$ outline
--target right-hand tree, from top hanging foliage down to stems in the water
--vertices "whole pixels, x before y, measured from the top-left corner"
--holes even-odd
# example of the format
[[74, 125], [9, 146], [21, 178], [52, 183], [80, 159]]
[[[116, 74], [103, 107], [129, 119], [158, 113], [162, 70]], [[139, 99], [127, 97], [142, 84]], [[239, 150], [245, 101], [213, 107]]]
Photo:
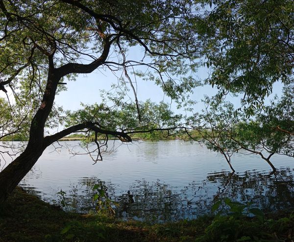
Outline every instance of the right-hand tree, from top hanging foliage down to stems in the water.
[[[294, 5], [291, 0], [213, 0], [198, 23], [211, 75], [217, 86], [196, 129], [209, 148], [231, 156], [245, 150], [270, 162], [273, 154], [294, 157]], [[273, 83], [284, 84], [283, 96], [264, 100]], [[225, 101], [231, 94], [242, 106]], [[209, 132], [207, 132], [209, 130]]]

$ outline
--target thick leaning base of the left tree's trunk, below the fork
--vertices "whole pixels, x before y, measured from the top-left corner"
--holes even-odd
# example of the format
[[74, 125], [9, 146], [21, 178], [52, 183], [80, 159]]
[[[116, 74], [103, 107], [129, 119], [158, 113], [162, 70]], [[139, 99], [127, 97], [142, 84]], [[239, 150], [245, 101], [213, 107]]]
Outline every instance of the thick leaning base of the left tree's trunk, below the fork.
[[45, 148], [28, 146], [25, 151], [0, 172], [0, 206], [26, 173], [32, 169]]

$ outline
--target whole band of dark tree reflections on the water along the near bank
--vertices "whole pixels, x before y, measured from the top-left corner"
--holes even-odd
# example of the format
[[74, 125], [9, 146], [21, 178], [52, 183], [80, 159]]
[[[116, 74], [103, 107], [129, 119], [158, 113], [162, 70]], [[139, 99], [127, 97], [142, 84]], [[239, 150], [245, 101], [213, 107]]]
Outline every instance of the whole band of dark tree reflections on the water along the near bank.
[[69, 209], [77, 212], [94, 209], [92, 188], [98, 183], [107, 187], [107, 196], [118, 203], [114, 209], [116, 216], [122, 219], [163, 222], [196, 218], [209, 213], [212, 204], [224, 197], [252, 202], [252, 206], [266, 211], [294, 206], [294, 169], [284, 168], [275, 174], [210, 173], [205, 180], [193, 181], [181, 188], [160, 180], [142, 179], [133, 182], [126, 191], [95, 176], [83, 177], [67, 191]]

